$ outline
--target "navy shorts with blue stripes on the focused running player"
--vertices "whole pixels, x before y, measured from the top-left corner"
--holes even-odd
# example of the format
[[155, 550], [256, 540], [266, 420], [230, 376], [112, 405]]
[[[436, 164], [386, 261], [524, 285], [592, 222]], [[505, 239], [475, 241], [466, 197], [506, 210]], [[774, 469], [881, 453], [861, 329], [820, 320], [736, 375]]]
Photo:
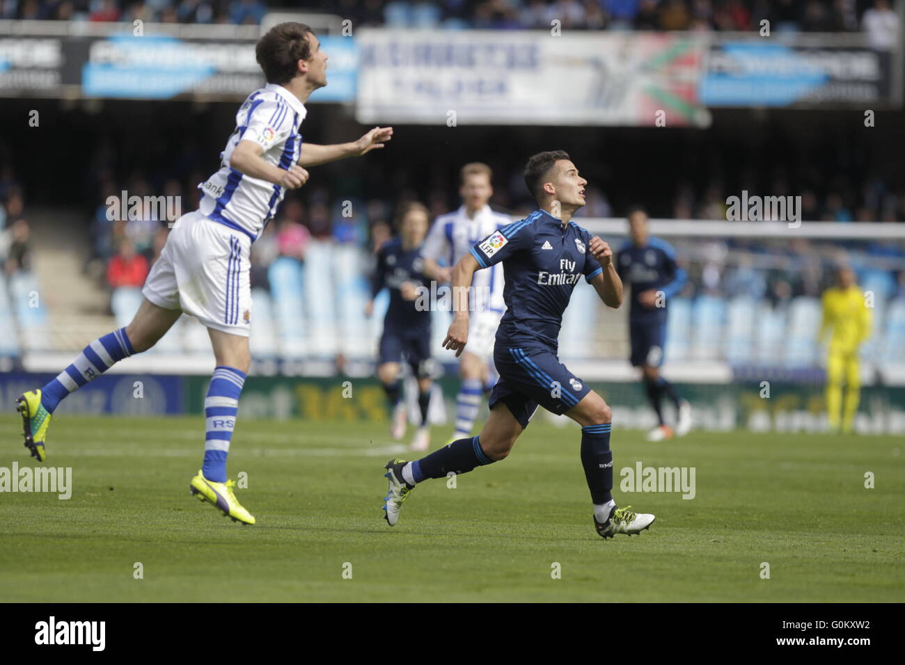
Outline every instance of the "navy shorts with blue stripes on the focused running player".
[[591, 392], [548, 349], [501, 347], [498, 343], [493, 348], [493, 363], [500, 380], [493, 386], [490, 407], [506, 404], [522, 427], [528, 427], [538, 405], [559, 415]]

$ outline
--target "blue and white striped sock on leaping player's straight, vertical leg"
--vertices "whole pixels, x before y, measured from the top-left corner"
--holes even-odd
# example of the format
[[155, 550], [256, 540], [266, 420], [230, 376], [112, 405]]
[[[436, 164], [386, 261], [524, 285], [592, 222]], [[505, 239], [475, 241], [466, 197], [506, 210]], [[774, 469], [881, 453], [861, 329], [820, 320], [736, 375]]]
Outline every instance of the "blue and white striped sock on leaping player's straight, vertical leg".
[[226, 456], [244, 384], [245, 373], [235, 367], [214, 368], [205, 398], [205, 463], [201, 472], [207, 480], [226, 482]]

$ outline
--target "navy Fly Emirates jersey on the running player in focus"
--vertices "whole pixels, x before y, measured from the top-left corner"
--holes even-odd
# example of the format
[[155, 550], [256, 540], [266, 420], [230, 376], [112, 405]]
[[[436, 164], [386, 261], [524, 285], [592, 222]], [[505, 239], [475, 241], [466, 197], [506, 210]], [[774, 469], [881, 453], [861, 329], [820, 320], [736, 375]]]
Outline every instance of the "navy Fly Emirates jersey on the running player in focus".
[[506, 313], [497, 346], [541, 345], [554, 351], [559, 328], [576, 282], [593, 280], [603, 269], [587, 249], [591, 234], [578, 224], [536, 210], [491, 233], [472, 247], [481, 268], [503, 264]]

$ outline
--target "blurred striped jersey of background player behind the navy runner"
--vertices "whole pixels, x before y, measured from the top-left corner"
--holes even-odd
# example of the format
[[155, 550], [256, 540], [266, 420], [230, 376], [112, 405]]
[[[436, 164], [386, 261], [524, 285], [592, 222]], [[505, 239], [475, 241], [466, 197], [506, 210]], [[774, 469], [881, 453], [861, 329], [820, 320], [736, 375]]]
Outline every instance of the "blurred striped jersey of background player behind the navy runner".
[[[509, 215], [494, 213], [490, 205], [485, 205], [469, 218], [462, 205], [452, 213], [441, 214], [433, 222], [424, 241], [422, 256], [452, 267], [462, 256], [471, 252], [475, 244], [510, 222]], [[503, 284], [503, 271], [497, 266], [476, 271], [472, 279], [472, 287], [489, 289], [486, 308], [500, 313], [506, 310]]]

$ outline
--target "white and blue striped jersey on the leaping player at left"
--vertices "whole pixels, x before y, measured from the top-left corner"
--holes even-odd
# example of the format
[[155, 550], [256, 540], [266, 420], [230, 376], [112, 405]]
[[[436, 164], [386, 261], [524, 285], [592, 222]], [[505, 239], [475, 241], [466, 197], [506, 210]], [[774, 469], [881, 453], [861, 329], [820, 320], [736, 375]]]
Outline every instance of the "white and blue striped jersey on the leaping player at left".
[[307, 113], [299, 98], [281, 85], [268, 83], [252, 92], [235, 114], [235, 131], [220, 153], [220, 170], [198, 185], [201, 213], [254, 241], [286, 192], [280, 185], [243, 175], [229, 165], [230, 157], [239, 141], [254, 141], [268, 164], [288, 170], [299, 161], [299, 127]]

